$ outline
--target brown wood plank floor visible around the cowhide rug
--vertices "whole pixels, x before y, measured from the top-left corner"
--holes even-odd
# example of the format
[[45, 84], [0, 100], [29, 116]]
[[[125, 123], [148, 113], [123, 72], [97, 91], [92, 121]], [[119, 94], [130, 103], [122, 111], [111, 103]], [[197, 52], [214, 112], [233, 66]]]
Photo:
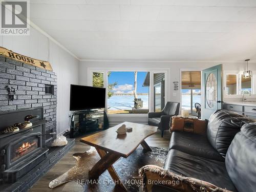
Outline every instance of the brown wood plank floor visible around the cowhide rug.
[[[62, 175], [63, 173], [67, 172], [68, 169], [74, 166], [74, 164], [76, 163], [76, 160], [72, 157], [74, 153], [82, 153], [90, 149], [89, 145], [79, 141], [79, 139], [82, 137], [76, 138], [76, 143], [75, 143], [75, 146], [72, 148], [72, 150], [69, 151], [58, 163], [56, 163], [45, 176], [43, 176], [40, 180], [38, 180], [34, 184], [34, 186], [29, 190], [30, 192], [31, 191], [35, 191], [35, 192], [83, 191], [82, 186], [77, 184], [75, 181], [63, 184], [54, 189], [51, 189], [48, 187], [48, 184], [52, 180]], [[156, 134], [145, 139], [148, 145], [162, 147], [162, 148], [168, 148], [169, 140], [170, 140], [169, 131], [165, 131], [163, 138], [161, 137], [160, 131], [158, 131]]]

